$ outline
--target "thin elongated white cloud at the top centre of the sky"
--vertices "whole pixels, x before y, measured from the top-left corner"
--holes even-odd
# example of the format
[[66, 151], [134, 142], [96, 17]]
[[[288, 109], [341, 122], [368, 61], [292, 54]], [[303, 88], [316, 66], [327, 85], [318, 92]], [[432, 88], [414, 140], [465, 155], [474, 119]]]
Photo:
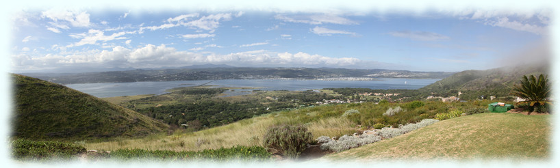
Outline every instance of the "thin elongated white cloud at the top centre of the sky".
[[275, 16], [278, 20], [283, 20], [285, 22], [291, 23], [307, 23], [310, 25], [322, 25], [322, 24], [338, 24], [338, 25], [359, 25], [354, 20], [348, 18], [343, 18], [333, 14], [314, 14], [314, 15], [300, 15], [300, 16], [283, 16], [277, 14]]

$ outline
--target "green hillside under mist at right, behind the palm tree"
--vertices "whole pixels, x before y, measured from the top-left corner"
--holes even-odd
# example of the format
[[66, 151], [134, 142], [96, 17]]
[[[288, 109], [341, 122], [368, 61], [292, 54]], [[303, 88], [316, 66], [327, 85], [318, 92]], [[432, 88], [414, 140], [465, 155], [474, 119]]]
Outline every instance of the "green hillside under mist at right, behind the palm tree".
[[418, 89], [424, 93], [440, 96], [456, 96], [462, 92], [461, 99], [472, 100], [477, 96], [509, 96], [511, 87], [519, 83], [523, 75], [548, 74], [548, 66], [510, 66], [490, 70], [466, 70], [458, 72], [441, 81]]

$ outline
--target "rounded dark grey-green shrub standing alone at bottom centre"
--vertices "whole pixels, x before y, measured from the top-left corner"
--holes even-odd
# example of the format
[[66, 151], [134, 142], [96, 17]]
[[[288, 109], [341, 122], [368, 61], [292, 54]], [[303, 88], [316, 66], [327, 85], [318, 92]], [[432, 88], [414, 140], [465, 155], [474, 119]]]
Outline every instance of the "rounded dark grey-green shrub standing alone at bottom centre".
[[282, 152], [284, 156], [297, 158], [312, 140], [305, 126], [272, 126], [264, 135], [264, 146]]

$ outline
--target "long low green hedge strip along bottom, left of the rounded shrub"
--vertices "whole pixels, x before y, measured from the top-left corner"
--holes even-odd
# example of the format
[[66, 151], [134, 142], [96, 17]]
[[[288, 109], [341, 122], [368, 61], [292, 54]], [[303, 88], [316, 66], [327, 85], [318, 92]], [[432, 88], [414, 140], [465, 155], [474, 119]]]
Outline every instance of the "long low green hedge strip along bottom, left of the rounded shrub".
[[111, 152], [110, 158], [116, 160], [270, 160], [270, 152], [260, 146], [236, 146], [218, 150], [182, 151], [123, 149]]

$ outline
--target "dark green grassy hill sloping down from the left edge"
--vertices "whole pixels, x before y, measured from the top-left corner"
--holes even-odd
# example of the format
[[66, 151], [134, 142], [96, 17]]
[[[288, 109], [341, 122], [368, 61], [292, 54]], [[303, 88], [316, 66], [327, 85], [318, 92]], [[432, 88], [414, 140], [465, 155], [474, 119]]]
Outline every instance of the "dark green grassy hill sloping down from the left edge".
[[13, 135], [28, 139], [137, 137], [166, 124], [63, 85], [12, 74]]

